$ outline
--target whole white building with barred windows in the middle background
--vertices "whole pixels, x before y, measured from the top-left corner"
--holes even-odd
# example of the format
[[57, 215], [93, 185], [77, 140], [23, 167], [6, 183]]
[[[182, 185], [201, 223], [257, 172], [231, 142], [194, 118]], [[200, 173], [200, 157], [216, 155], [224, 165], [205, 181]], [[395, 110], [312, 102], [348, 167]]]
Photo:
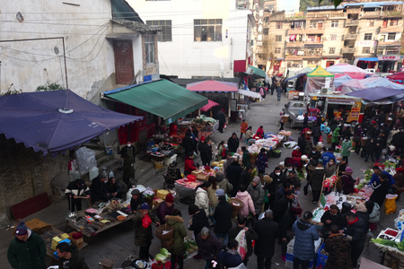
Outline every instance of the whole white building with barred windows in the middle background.
[[252, 1], [129, 0], [145, 23], [162, 28], [160, 72], [179, 78], [226, 77], [253, 62]]

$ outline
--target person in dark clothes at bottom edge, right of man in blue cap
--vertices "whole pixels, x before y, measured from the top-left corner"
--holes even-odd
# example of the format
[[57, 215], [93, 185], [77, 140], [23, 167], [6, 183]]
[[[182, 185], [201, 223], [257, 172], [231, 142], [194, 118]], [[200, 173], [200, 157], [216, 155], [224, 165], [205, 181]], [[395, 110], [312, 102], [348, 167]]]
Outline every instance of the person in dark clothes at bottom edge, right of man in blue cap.
[[57, 244], [57, 256], [60, 269], [90, 269], [84, 258], [78, 255], [78, 248], [74, 244], [61, 242]]

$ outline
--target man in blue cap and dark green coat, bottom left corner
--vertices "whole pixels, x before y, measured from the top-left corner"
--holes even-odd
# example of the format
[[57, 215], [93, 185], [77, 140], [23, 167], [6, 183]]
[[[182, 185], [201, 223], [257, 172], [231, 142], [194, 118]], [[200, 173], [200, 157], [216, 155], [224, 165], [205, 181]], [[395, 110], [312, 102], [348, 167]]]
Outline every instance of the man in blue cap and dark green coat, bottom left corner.
[[45, 269], [47, 246], [44, 240], [20, 221], [8, 247], [7, 259], [13, 269]]

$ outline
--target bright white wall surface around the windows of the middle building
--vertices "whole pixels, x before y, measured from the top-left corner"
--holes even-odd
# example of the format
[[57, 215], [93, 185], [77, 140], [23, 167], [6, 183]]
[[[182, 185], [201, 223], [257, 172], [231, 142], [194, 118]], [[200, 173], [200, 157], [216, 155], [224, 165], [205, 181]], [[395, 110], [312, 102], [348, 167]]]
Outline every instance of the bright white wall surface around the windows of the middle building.
[[[172, 41], [158, 43], [161, 74], [233, 77], [233, 61], [246, 59], [250, 11], [237, 10], [235, 0], [127, 2], [144, 22], [171, 20]], [[194, 19], [223, 19], [222, 41], [194, 42]]]

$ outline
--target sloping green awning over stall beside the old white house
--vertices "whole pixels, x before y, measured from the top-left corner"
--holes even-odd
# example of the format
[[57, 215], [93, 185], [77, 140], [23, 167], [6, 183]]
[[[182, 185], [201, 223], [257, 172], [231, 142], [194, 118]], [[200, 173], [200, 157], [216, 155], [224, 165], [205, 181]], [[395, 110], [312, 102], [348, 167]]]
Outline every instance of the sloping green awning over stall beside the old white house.
[[206, 97], [167, 80], [130, 85], [106, 91], [103, 96], [162, 117], [166, 124], [207, 104]]

